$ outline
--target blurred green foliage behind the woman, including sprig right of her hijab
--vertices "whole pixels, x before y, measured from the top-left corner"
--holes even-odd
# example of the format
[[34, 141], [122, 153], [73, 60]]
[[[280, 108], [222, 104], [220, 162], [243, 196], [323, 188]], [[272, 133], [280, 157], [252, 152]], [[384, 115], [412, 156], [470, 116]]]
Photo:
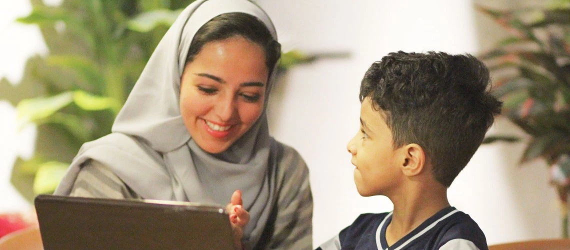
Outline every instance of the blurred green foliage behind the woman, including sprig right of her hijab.
[[[37, 126], [31, 159], [18, 158], [11, 183], [25, 198], [55, 190], [79, 147], [111, 132], [116, 114], [158, 42], [193, 0], [63, 0], [17, 21], [40, 28], [48, 55], [26, 62], [18, 84], [0, 80], [0, 100], [16, 106], [18, 125]], [[318, 58], [282, 56], [279, 72]]]

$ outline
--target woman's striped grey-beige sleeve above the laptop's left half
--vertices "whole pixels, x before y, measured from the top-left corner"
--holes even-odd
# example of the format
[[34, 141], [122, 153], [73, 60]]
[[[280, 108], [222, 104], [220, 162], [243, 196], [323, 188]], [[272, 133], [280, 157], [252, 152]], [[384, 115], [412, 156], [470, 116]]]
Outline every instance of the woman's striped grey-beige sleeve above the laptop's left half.
[[70, 196], [109, 199], [139, 199], [115, 173], [97, 161], [87, 161], [82, 166]]

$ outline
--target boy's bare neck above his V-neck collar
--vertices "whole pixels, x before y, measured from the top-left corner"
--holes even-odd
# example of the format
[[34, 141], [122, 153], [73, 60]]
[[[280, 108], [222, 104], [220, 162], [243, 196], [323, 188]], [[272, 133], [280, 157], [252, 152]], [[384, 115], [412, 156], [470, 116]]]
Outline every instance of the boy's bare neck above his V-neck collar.
[[447, 187], [439, 184], [406, 188], [405, 192], [390, 195], [388, 198], [394, 203], [392, 221], [386, 228], [388, 245], [396, 243], [425, 220], [450, 206], [447, 201]]

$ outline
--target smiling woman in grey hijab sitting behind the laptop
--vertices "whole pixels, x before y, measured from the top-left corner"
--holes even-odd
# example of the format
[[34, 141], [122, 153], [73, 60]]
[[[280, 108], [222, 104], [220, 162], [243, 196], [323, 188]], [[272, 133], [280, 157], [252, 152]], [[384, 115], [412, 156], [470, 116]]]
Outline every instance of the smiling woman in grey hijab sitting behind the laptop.
[[231, 200], [245, 248], [312, 249], [307, 166], [268, 134], [279, 56], [275, 28], [254, 3], [192, 3], [150, 57], [113, 133], [82, 146], [55, 194]]

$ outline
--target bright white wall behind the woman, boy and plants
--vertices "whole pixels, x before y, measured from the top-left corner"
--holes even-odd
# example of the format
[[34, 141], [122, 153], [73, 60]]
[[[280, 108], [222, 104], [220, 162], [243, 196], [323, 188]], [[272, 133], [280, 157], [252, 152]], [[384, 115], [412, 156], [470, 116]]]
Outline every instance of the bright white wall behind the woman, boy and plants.
[[[11, 80], [19, 77], [10, 74], [21, 72], [30, 51], [44, 50], [33, 27], [9, 23], [12, 17], [25, 15], [22, 6], [27, 3], [21, 2], [0, 3], [0, 37], [11, 38], [11, 42], [0, 39], [0, 76]], [[286, 49], [351, 52], [348, 59], [320, 60], [292, 69], [275, 87], [270, 104], [272, 134], [294, 146], [310, 167], [318, 245], [358, 214], [392, 209], [384, 197], [359, 196], [345, 149], [359, 127], [358, 91], [368, 66], [397, 50], [476, 54], [482, 43], [477, 35], [481, 27], [467, 0], [257, 2], [274, 20]], [[6, 183], [16, 153], [10, 110], [0, 105], [0, 152], [6, 154], [0, 155], [5, 159], [0, 161], [0, 212], [27, 206]], [[511, 131], [522, 134], [503, 119], [491, 129]], [[559, 236], [556, 197], [544, 163], [519, 166], [522, 150], [521, 144], [482, 146], [449, 189], [452, 205], [479, 223], [490, 244]]]

